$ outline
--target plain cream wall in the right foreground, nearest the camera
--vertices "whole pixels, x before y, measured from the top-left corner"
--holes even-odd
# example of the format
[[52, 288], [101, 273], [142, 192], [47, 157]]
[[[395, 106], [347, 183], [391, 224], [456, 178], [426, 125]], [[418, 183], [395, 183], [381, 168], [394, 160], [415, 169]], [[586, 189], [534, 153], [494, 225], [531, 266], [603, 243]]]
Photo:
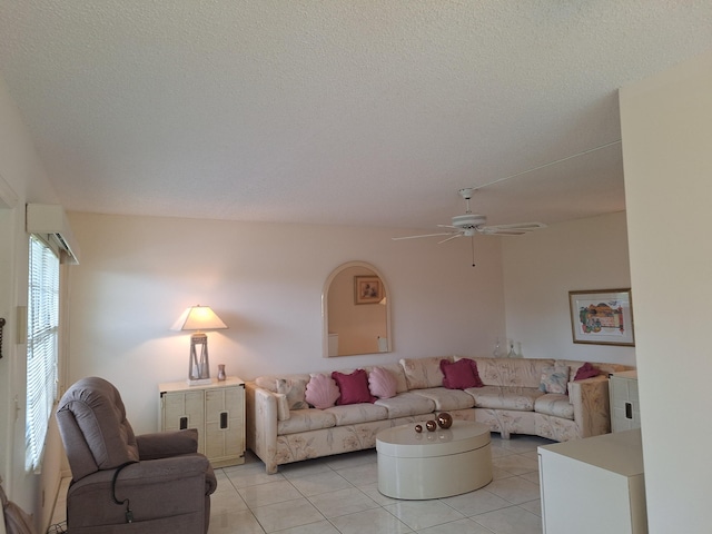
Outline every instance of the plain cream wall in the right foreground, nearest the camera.
[[712, 52], [620, 101], [649, 527], [710, 532]]

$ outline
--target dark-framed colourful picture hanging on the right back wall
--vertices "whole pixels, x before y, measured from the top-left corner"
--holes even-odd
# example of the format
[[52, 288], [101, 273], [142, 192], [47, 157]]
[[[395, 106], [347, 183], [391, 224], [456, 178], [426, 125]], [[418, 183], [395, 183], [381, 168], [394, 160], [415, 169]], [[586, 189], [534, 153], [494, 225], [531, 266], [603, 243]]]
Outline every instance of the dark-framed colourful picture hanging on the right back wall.
[[568, 291], [574, 343], [634, 347], [631, 289]]

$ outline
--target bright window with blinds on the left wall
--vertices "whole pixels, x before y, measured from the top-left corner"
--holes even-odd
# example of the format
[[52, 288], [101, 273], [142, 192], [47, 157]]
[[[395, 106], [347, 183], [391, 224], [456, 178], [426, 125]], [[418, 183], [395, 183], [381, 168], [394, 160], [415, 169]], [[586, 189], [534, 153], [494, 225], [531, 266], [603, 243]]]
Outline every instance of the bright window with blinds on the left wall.
[[57, 398], [59, 336], [59, 258], [37, 236], [30, 237], [27, 325], [26, 468], [37, 469]]

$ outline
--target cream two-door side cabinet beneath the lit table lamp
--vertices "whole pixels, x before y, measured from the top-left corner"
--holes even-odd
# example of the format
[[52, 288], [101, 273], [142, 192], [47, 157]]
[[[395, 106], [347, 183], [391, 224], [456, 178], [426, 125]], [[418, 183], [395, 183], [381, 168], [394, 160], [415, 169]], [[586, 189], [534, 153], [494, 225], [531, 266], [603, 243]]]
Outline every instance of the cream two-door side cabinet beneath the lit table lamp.
[[198, 429], [198, 452], [212, 467], [245, 463], [245, 383], [229, 377], [201, 386], [158, 385], [161, 432]]

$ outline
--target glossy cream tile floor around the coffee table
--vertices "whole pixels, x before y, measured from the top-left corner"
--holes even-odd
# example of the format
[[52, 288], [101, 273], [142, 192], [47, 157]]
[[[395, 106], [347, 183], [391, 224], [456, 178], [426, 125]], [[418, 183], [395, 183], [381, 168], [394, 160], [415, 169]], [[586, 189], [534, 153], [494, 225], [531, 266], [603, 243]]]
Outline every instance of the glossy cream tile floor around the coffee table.
[[209, 534], [540, 534], [536, 447], [550, 443], [493, 434], [494, 481], [432, 501], [379, 494], [375, 449], [283, 465], [276, 475], [248, 452], [244, 465], [216, 469]]

